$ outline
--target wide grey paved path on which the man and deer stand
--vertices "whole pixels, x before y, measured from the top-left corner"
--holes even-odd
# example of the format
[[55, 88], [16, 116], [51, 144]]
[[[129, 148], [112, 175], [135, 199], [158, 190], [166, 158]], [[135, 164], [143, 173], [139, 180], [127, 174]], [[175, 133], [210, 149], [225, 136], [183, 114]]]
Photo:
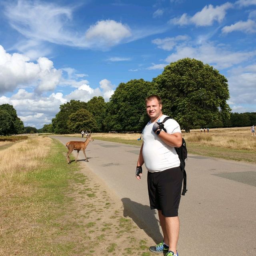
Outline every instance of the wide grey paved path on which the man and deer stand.
[[[82, 140], [51, 137], [63, 144]], [[159, 242], [162, 234], [158, 216], [148, 206], [144, 166], [142, 180], [135, 178], [139, 150], [138, 146], [94, 140], [86, 150], [89, 162], [85, 164], [122, 200], [124, 215], [130, 216], [148, 236]], [[255, 255], [255, 164], [188, 156], [188, 192], [182, 196], [179, 209], [180, 256]], [[84, 160], [82, 152], [79, 157]]]

